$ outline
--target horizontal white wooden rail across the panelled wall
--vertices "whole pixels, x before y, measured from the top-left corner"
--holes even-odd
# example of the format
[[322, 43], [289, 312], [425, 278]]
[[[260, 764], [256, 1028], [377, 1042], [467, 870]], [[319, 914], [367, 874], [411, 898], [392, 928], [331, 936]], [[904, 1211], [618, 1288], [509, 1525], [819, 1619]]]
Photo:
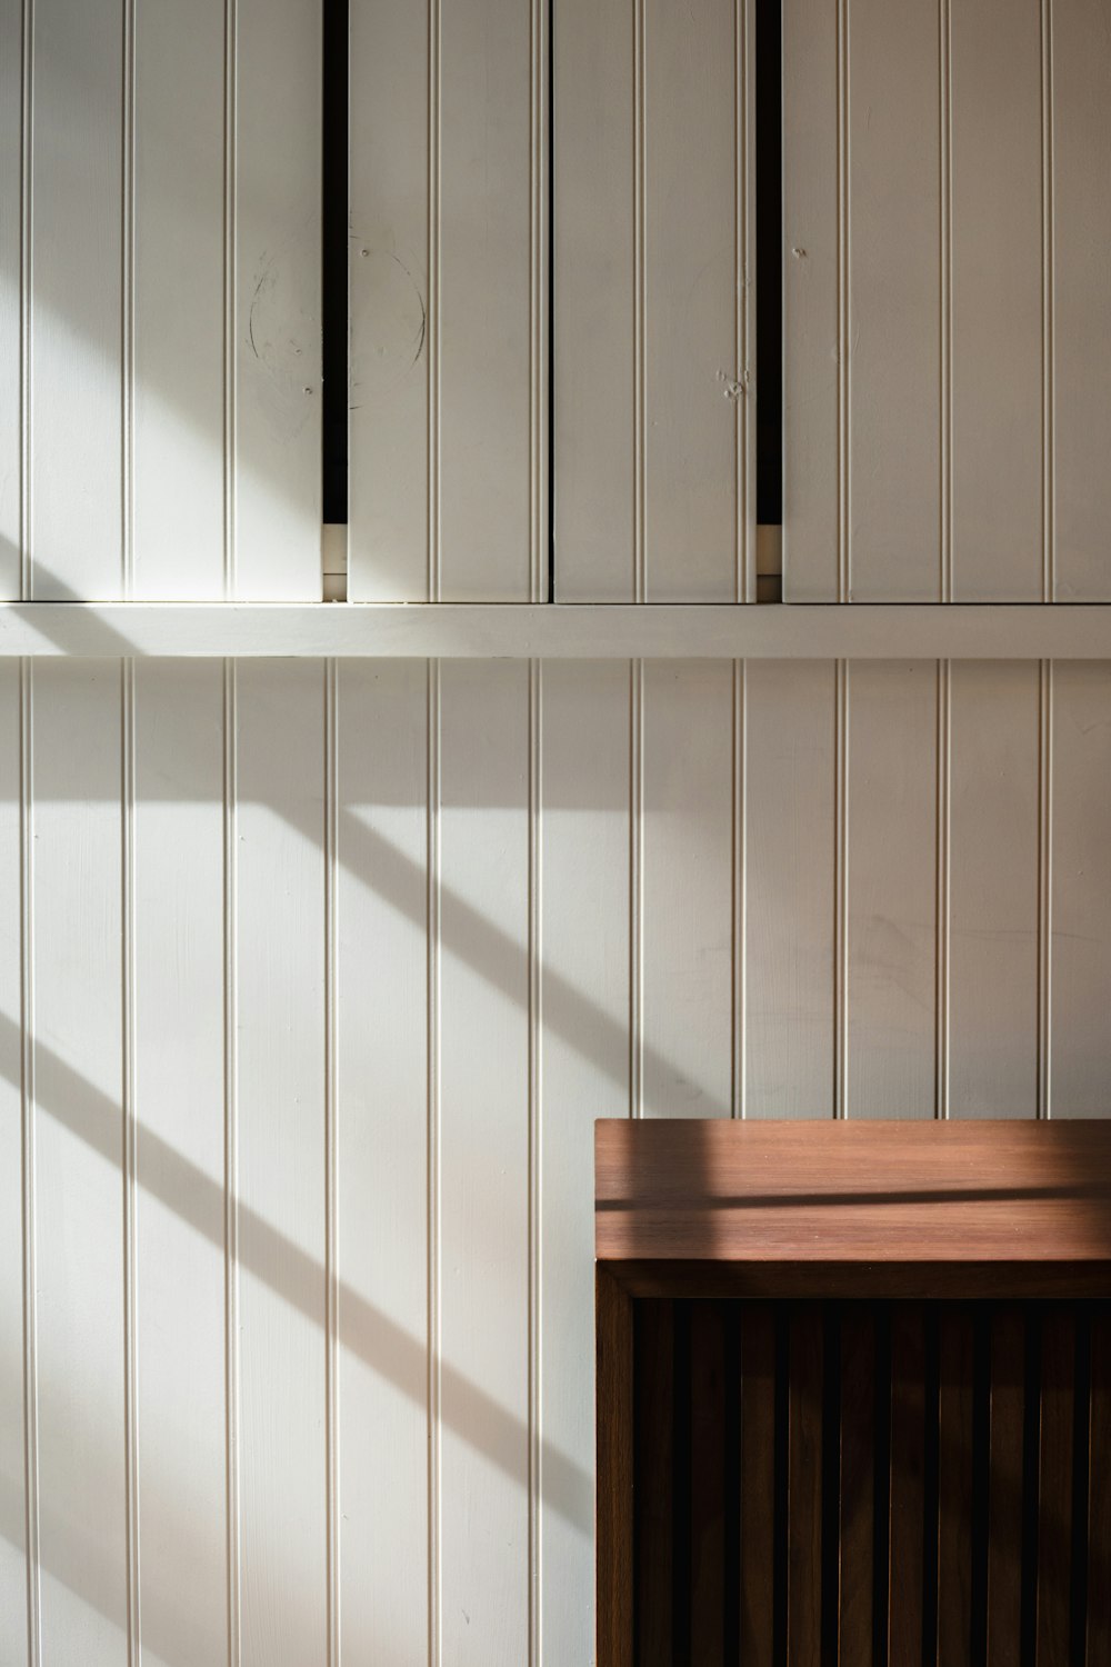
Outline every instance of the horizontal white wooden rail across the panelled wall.
[[1111, 605], [3, 602], [0, 658], [1106, 660]]

